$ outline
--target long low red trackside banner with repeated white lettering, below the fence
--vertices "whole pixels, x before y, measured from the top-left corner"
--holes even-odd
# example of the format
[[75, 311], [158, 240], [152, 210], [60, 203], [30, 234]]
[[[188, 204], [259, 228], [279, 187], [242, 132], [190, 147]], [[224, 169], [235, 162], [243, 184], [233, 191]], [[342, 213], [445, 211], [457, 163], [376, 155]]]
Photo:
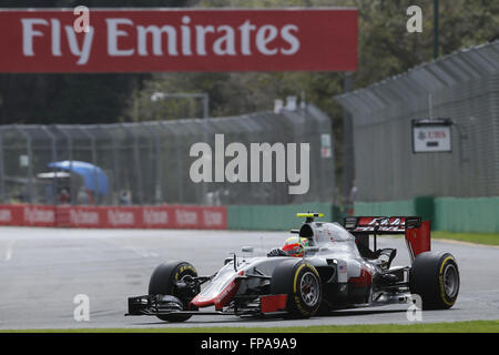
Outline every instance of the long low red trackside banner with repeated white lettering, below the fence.
[[95, 229], [227, 229], [224, 206], [0, 205], [0, 225]]

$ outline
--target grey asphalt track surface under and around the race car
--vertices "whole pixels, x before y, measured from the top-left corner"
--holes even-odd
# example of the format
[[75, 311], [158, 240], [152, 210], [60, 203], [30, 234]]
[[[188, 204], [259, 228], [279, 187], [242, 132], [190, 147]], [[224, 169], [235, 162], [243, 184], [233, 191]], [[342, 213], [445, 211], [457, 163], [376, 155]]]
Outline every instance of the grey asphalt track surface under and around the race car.
[[[285, 232], [0, 227], [0, 328], [411, 323], [407, 305], [337, 311], [302, 321], [211, 315], [169, 324], [151, 316], [123, 316], [126, 297], [146, 294], [152, 271], [164, 261], [189, 261], [198, 274], [210, 275], [244, 245], [268, 251], [286, 237]], [[378, 245], [397, 247], [394, 265], [408, 264], [403, 239], [380, 237]], [[432, 250], [455, 255], [461, 287], [451, 310], [425, 311], [422, 322], [499, 318], [499, 248], [434, 241]], [[73, 318], [78, 294], [90, 297], [89, 322]]]

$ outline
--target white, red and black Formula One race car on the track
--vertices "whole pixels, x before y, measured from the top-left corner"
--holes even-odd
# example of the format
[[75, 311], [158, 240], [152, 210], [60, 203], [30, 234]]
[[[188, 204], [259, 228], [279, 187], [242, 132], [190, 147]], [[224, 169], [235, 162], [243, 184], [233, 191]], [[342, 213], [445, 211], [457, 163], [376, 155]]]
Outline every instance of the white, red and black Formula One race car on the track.
[[[149, 295], [130, 297], [126, 315], [154, 315], [183, 322], [195, 314], [310, 317], [318, 312], [413, 302], [422, 308], [449, 308], [459, 292], [459, 271], [449, 253], [430, 252], [430, 225], [418, 216], [346, 217], [314, 222], [318, 213], [292, 231], [306, 239], [301, 257], [281, 250], [267, 256], [225, 260], [214, 275], [200, 276], [186, 262], [155, 268]], [[410, 266], [391, 267], [394, 248], [376, 248], [376, 237], [404, 234]], [[369, 248], [370, 237], [374, 250]], [[251, 252], [245, 248], [243, 252]], [[202, 285], [205, 287], [202, 288]], [[214, 311], [200, 311], [214, 306]]]

